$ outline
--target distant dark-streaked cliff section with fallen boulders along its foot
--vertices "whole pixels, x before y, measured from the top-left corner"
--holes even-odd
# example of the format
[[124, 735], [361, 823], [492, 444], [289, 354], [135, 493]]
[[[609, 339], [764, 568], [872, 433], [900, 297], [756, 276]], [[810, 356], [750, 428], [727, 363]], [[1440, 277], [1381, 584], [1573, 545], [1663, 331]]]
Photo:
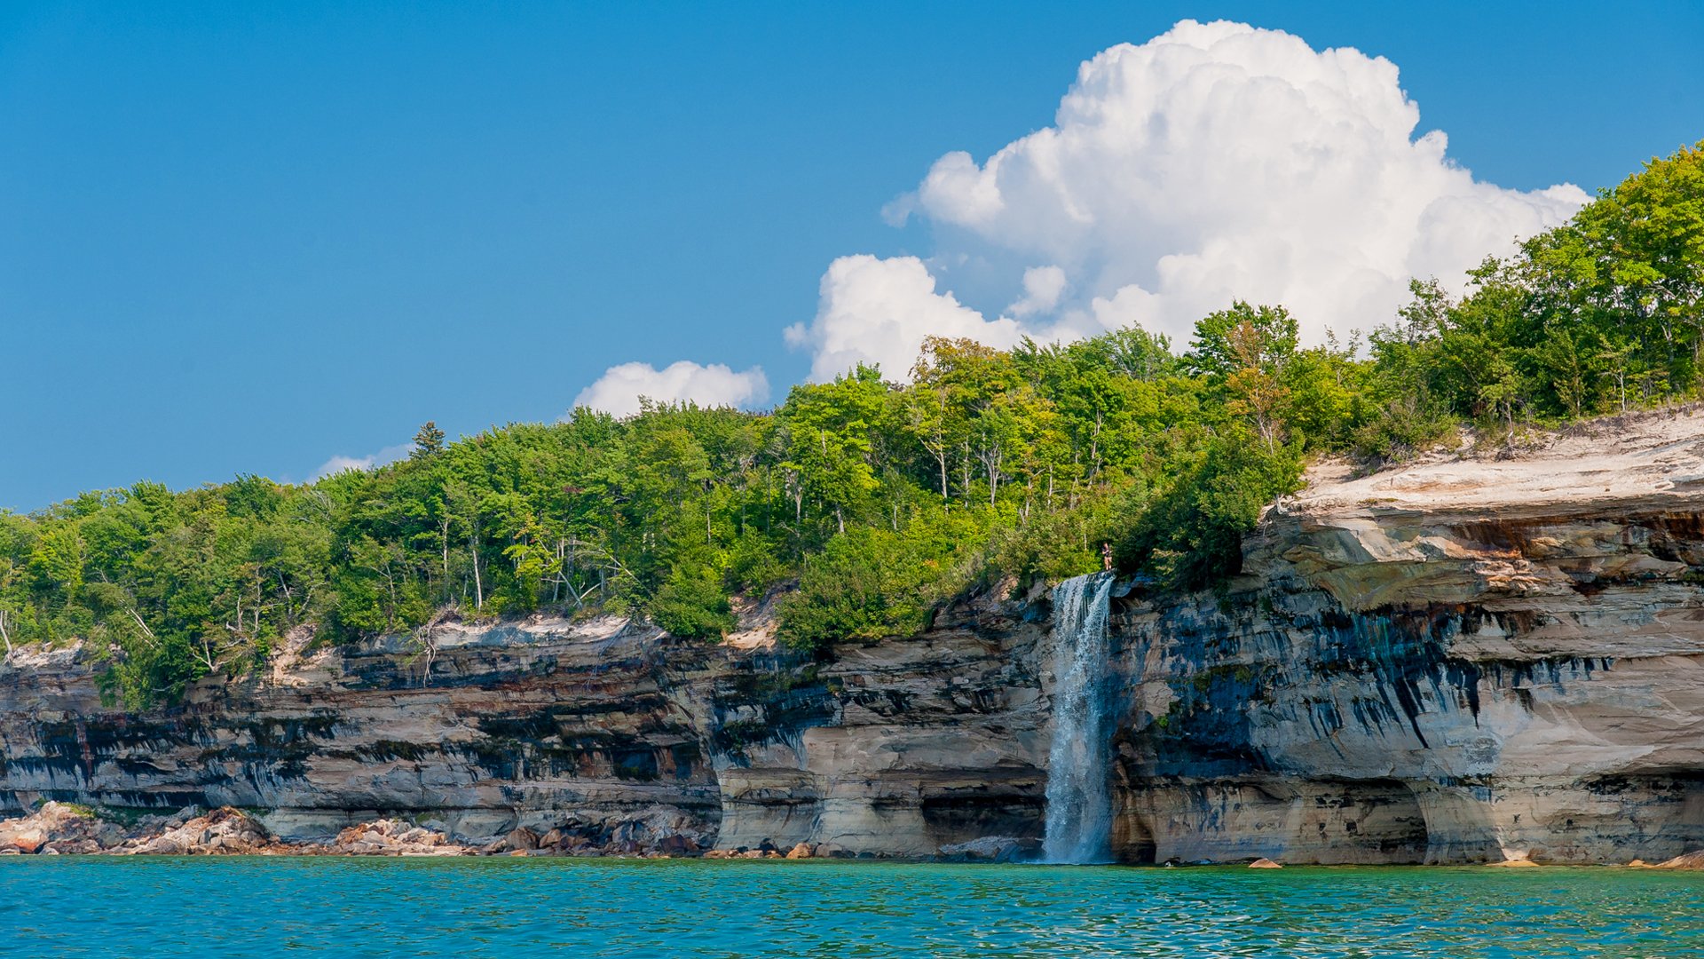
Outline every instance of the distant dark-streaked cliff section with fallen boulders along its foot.
[[636, 848], [668, 838], [649, 834], [666, 807], [683, 840], [709, 841], [700, 730], [757, 669], [622, 621], [445, 626], [429, 647], [286, 654], [133, 715], [101, 705], [80, 650], [14, 655], [0, 800], [252, 807], [286, 840], [407, 814], [463, 838], [567, 828]]

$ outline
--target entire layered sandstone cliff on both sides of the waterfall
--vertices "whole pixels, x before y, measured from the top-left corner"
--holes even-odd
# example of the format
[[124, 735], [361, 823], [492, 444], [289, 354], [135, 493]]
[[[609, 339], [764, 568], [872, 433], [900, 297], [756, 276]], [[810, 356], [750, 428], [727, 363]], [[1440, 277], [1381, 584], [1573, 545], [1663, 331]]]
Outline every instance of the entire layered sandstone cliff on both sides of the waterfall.
[[[1704, 846], [1699, 584], [1704, 418], [1317, 468], [1222, 590], [1114, 589], [1114, 855]], [[394, 817], [596, 851], [1009, 857], [1043, 831], [1050, 616], [1045, 592], [1000, 589], [820, 662], [775, 650], [762, 609], [724, 645], [617, 619], [452, 625], [286, 650], [141, 715], [101, 705], [82, 652], [19, 652], [0, 807], [237, 805], [285, 840]]]

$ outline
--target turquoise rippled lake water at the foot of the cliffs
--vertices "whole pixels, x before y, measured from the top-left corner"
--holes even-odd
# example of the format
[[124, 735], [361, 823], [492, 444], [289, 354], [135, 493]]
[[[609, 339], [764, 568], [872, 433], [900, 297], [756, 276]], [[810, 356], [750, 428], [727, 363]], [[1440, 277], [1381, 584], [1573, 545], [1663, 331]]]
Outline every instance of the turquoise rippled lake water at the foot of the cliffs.
[[9, 857], [0, 956], [1704, 957], [1704, 875]]

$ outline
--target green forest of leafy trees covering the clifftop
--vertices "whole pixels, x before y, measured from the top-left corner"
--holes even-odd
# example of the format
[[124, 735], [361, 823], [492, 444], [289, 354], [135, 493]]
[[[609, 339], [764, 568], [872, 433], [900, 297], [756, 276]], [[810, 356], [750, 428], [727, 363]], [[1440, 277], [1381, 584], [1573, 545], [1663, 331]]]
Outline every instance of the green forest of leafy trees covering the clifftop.
[[915, 631], [970, 589], [1097, 570], [1102, 544], [1157, 590], [1210, 587], [1310, 456], [1377, 469], [1464, 427], [1513, 444], [1697, 398], [1704, 143], [1486, 259], [1460, 300], [1411, 288], [1322, 346], [1242, 302], [1189, 343], [932, 340], [908, 382], [861, 367], [767, 413], [576, 410], [452, 444], [428, 423], [406, 461], [312, 485], [3, 512], [0, 638], [82, 640], [141, 706], [300, 626], [424, 642], [446, 618], [610, 611], [714, 642], [736, 599], [777, 590], [780, 638], [826, 650]]

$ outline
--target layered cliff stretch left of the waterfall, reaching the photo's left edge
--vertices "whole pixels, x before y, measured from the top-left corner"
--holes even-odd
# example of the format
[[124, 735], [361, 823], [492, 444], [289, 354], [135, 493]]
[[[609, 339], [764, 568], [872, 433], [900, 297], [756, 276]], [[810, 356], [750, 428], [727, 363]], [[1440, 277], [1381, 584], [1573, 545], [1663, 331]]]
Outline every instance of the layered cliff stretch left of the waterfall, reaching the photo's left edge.
[[[1043, 623], [997, 607], [832, 664], [622, 619], [441, 626], [286, 652], [181, 706], [104, 706], [83, 650], [0, 667], [0, 809], [261, 811], [281, 840], [407, 817], [583, 851], [801, 841], [934, 855], [1039, 836]], [[751, 616], [763, 623], [763, 613]], [[583, 840], [583, 841], [576, 841]]]

